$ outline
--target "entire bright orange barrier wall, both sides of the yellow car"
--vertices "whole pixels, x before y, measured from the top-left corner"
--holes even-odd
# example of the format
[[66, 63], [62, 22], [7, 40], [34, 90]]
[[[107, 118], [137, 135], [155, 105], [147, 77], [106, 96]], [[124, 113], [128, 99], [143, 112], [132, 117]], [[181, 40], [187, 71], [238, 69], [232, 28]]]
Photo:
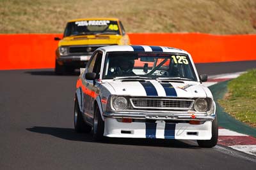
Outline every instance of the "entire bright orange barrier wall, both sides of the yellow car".
[[[0, 69], [53, 68], [61, 34], [0, 34]], [[132, 45], [182, 48], [196, 63], [256, 60], [256, 35], [131, 33]]]

